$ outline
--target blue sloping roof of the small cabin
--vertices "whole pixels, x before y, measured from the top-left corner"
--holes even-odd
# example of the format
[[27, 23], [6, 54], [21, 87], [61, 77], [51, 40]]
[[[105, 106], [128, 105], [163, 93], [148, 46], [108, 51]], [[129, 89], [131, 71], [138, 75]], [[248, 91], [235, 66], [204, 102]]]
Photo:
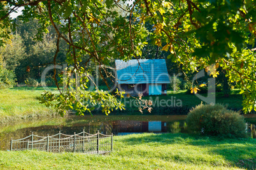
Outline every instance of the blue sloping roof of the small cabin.
[[115, 60], [119, 84], [170, 83], [164, 59]]

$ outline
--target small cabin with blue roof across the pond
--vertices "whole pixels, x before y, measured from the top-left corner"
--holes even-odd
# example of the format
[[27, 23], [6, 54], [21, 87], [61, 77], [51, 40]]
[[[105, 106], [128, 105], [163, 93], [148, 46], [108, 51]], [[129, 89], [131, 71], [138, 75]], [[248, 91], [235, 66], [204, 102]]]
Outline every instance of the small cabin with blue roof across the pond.
[[115, 60], [118, 89], [131, 96], [166, 94], [169, 75], [166, 60]]

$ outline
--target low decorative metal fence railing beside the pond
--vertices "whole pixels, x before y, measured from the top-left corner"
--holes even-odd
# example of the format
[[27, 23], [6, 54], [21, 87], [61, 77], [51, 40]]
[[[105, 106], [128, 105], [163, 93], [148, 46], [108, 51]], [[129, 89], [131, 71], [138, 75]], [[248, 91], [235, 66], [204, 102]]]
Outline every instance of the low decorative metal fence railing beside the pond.
[[89, 134], [85, 131], [73, 135], [55, 134], [37, 136], [31, 134], [22, 139], [11, 138], [10, 150], [43, 150], [46, 152], [82, 152], [104, 154], [113, 151], [113, 134]]

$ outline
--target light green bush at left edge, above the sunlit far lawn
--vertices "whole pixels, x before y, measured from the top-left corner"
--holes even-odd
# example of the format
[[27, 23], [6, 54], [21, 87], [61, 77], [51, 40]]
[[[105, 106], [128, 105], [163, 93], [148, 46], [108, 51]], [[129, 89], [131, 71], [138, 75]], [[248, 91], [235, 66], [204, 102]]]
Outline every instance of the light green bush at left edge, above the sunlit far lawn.
[[13, 87], [16, 84], [15, 73], [0, 66], [0, 89]]

